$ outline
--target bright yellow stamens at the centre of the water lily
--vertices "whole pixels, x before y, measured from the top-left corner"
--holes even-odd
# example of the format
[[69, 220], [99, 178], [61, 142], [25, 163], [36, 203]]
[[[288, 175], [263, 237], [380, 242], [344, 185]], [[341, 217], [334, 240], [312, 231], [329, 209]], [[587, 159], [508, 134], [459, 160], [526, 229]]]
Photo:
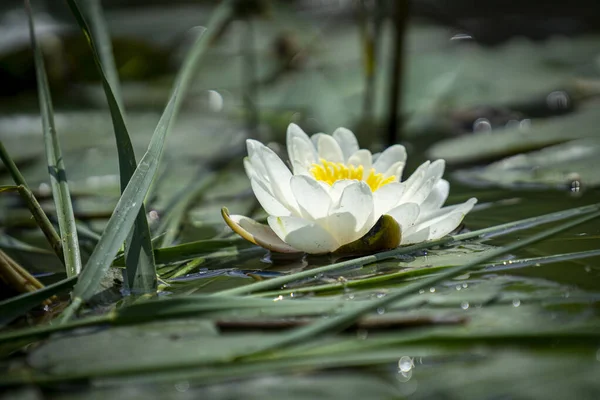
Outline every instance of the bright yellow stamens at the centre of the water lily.
[[369, 175], [363, 179], [364, 167], [362, 165], [346, 165], [342, 163], [334, 163], [321, 159], [321, 164], [313, 164], [310, 169], [311, 174], [316, 180], [327, 183], [329, 186], [342, 179], [356, 179], [359, 181], [365, 181], [371, 188], [372, 192], [375, 192], [382, 186], [388, 183], [394, 182], [395, 176], [388, 176], [385, 178], [382, 173], [375, 172], [374, 168], [369, 170]]

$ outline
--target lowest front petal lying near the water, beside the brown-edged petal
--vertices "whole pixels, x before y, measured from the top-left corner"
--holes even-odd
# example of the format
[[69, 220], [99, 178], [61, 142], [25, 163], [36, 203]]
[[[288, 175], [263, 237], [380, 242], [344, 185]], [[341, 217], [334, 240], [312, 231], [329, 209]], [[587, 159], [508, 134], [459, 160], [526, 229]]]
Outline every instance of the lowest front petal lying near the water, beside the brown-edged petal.
[[288, 245], [310, 254], [324, 254], [340, 245], [316, 222], [297, 217], [269, 217], [269, 226]]

